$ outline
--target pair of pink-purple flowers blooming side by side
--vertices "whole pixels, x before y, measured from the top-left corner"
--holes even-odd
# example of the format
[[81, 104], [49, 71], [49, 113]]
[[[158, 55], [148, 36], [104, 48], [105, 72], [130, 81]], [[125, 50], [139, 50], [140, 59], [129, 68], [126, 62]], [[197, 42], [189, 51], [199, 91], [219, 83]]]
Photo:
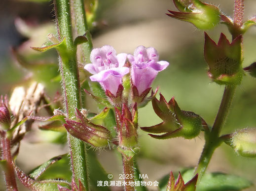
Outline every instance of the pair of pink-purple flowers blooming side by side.
[[[131, 68], [124, 66], [127, 58]], [[150, 87], [157, 73], [169, 65], [167, 61], [158, 61], [159, 55], [154, 48], [144, 46], [139, 46], [134, 55], [116, 55], [113, 47], [105, 45], [93, 49], [90, 59], [92, 63], [86, 64], [84, 69], [93, 74], [91, 81], [100, 82], [104, 90], [108, 89], [113, 95], [116, 95], [118, 86], [122, 84], [122, 77], [129, 72], [132, 84], [141, 94]]]

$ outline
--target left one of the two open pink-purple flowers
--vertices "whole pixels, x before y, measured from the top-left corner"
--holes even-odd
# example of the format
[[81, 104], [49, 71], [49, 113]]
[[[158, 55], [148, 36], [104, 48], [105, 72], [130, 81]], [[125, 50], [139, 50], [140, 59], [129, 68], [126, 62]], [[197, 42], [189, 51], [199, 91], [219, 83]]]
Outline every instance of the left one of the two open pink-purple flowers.
[[92, 50], [92, 63], [86, 64], [84, 69], [93, 74], [91, 81], [100, 82], [104, 90], [108, 89], [116, 95], [118, 86], [122, 84], [122, 77], [129, 73], [129, 68], [123, 67], [126, 57], [125, 53], [116, 55], [113, 47], [105, 45]]

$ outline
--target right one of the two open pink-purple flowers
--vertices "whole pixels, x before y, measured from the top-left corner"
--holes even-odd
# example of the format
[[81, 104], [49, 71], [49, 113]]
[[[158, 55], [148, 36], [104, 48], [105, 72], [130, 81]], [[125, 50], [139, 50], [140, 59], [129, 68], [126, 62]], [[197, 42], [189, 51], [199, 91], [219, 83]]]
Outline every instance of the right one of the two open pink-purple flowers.
[[157, 73], [169, 65], [167, 61], [158, 61], [158, 53], [152, 47], [139, 46], [134, 55], [127, 55], [127, 58], [132, 64], [131, 78], [139, 94], [149, 88]]

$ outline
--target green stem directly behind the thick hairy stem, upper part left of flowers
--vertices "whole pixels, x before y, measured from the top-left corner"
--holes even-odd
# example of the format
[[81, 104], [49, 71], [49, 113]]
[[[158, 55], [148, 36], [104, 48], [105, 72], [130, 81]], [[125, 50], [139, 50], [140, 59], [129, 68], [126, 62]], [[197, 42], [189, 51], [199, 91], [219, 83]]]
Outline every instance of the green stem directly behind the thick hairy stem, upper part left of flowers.
[[90, 54], [92, 51], [92, 41], [91, 35], [88, 29], [88, 25], [86, 22], [86, 14], [84, 9], [84, 0], [71, 0], [71, 8], [72, 8], [72, 17], [73, 17], [73, 26], [74, 32], [77, 36], [82, 36], [86, 32], [86, 38], [88, 39], [87, 43], [81, 44], [83, 60], [86, 63], [90, 63]]

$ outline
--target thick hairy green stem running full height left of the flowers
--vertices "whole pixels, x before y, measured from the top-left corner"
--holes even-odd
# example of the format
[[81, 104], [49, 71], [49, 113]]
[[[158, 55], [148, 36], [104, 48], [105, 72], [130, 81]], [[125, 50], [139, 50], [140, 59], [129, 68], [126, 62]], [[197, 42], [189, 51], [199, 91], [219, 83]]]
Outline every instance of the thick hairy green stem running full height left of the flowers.
[[[73, 34], [70, 16], [69, 0], [54, 0], [56, 22], [59, 40], [66, 38], [67, 50], [60, 53], [60, 72], [62, 75], [65, 108], [70, 119], [75, 118], [75, 108], [81, 108], [80, 85], [76, 61], [76, 47], [73, 44]], [[80, 180], [88, 190], [88, 175], [86, 150], [84, 143], [68, 134], [73, 179], [79, 185]]]

